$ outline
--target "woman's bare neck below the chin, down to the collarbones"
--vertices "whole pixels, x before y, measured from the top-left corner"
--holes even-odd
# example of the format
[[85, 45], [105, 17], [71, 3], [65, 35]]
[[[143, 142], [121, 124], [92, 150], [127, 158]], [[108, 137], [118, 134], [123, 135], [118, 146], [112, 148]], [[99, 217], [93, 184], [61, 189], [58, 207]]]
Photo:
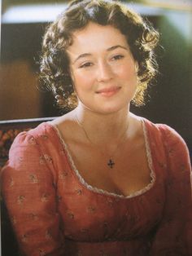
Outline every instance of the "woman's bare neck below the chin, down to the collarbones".
[[102, 145], [119, 143], [120, 137], [126, 136], [129, 130], [129, 108], [123, 108], [116, 113], [95, 113], [81, 105], [74, 110], [74, 114], [85, 129], [92, 143]]

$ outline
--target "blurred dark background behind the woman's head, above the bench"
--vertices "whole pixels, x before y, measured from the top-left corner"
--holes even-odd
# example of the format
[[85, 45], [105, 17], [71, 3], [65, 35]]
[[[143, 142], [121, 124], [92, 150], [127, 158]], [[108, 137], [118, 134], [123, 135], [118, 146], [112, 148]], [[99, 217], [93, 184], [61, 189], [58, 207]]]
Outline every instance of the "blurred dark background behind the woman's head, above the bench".
[[[59, 116], [50, 92], [37, 89], [37, 60], [47, 23], [67, 1], [2, 0], [0, 121]], [[161, 34], [159, 76], [145, 107], [133, 113], [172, 126], [192, 148], [192, 2], [126, 1]]]

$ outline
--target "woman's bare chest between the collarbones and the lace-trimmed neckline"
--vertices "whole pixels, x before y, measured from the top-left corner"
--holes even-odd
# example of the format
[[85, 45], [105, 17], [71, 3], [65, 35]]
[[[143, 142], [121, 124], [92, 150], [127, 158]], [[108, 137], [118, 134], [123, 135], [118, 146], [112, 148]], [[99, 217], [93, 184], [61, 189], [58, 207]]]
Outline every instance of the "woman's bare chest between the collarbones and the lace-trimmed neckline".
[[112, 156], [103, 148], [71, 143], [70, 154], [81, 177], [94, 188], [128, 196], [151, 183], [145, 143], [135, 148], [124, 145]]

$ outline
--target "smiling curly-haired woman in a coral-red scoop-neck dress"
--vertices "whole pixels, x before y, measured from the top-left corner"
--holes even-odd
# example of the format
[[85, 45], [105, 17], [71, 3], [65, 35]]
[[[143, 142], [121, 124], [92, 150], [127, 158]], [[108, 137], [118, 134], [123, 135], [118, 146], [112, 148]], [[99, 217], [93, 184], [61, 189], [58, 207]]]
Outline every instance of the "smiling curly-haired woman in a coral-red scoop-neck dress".
[[2, 171], [24, 255], [191, 255], [183, 139], [129, 112], [159, 34], [119, 2], [75, 1], [50, 24], [41, 81], [75, 108], [17, 136]]

